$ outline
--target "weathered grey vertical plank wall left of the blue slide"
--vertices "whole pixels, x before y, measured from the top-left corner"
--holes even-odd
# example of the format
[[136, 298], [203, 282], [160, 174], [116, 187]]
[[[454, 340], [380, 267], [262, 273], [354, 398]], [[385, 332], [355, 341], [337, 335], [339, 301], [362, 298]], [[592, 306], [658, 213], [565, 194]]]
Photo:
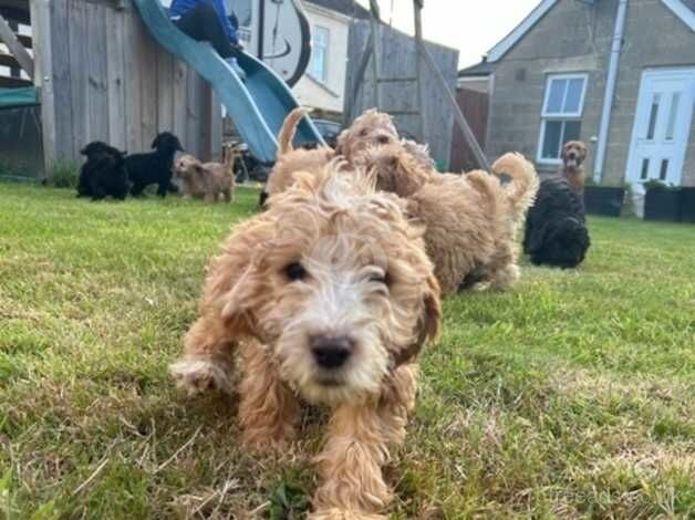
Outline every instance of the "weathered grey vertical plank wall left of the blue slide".
[[164, 131], [203, 159], [218, 155], [221, 114], [211, 89], [149, 37], [128, 0], [42, 1], [32, 0], [32, 21], [51, 82], [40, 80], [44, 143], [53, 146], [46, 163], [76, 158], [94, 139], [148, 150]]

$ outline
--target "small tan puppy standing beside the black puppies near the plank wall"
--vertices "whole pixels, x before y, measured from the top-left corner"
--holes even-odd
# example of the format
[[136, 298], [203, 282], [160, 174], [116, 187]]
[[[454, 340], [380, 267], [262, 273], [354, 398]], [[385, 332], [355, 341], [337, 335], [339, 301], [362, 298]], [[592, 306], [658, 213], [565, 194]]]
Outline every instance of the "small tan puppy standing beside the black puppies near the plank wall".
[[184, 184], [184, 195], [204, 198], [206, 202], [217, 202], [219, 196], [225, 201], [234, 200], [234, 155], [225, 149], [224, 164], [200, 163], [193, 155], [181, 155], [174, 165], [174, 175]]

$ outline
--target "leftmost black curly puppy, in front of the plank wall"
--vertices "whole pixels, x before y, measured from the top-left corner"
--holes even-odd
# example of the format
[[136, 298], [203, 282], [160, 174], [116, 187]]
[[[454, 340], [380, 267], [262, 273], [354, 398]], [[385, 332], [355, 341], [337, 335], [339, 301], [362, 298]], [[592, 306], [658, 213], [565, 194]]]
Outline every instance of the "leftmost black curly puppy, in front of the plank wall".
[[121, 152], [101, 141], [93, 141], [80, 150], [86, 163], [80, 169], [77, 197], [92, 197], [101, 200], [112, 196], [125, 199], [128, 193], [128, 178], [125, 170], [125, 156]]

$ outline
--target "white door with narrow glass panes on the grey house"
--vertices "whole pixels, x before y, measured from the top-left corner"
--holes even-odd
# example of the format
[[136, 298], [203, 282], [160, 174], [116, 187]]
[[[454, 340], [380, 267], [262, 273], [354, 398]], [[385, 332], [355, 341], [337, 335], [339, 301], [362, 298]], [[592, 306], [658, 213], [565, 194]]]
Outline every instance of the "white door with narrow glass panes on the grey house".
[[642, 73], [627, 160], [627, 181], [680, 185], [691, 135], [695, 69]]

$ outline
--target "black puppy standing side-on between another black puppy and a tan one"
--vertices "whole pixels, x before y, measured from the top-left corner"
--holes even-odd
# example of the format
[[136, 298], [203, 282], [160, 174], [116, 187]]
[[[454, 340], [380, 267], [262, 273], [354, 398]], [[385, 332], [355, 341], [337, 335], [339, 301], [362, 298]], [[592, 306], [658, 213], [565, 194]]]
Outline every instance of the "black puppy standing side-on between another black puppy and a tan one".
[[154, 152], [133, 154], [125, 159], [128, 178], [133, 184], [131, 194], [138, 196], [151, 184], [157, 185], [157, 195], [165, 197], [167, 191], [178, 188], [172, 183], [172, 165], [176, 152], [184, 152], [180, 141], [170, 132], [163, 132], [152, 143]]

